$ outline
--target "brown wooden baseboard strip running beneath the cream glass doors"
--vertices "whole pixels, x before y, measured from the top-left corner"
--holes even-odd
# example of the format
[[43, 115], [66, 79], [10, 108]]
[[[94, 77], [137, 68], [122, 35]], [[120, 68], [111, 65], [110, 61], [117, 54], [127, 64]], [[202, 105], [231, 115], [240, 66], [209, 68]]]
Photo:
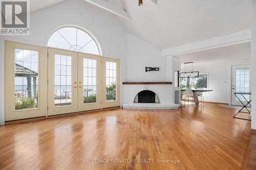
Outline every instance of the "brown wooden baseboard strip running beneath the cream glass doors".
[[96, 110], [81, 111], [81, 112], [74, 112], [74, 113], [58, 114], [58, 115], [52, 115], [52, 116], [42, 116], [42, 117], [33, 117], [33, 118], [25, 118], [25, 119], [18, 119], [18, 120], [10, 120], [10, 121], [6, 121], [5, 125], [31, 123], [31, 122], [36, 122], [38, 120], [44, 120], [44, 119], [49, 119], [49, 118], [73, 116], [73, 115], [77, 115], [77, 114], [86, 114], [86, 113], [93, 113], [93, 112], [99, 112], [99, 111], [105, 111], [105, 110], [114, 110], [114, 109], [120, 109], [120, 106], [110, 107], [110, 108], [103, 108], [103, 109], [96, 109]]

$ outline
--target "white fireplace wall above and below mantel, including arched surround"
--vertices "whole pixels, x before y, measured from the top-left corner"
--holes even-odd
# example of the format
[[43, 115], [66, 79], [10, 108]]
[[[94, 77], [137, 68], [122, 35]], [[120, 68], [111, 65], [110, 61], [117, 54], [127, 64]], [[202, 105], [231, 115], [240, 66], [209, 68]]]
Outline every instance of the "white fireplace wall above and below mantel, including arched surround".
[[[161, 51], [156, 47], [147, 44], [133, 34], [127, 34], [127, 81], [146, 82], [146, 81], [166, 81], [166, 67], [172, 74], [171, 62], [166, 66], [166, 57], [162, 57]], [[145, 72], [147, 67], [159, 67], [159, 71]], [[170, 79], [171, 81], [171, 79]], [[154, 91], [160, 99], [160, 103], [173, 104], [172, 85], [123, 85], [125, 98], [123, 103], [131, 104], [134, 102], [136, 94], [142, 90]], [[165, 94], [168, 95], [165, 95]]]

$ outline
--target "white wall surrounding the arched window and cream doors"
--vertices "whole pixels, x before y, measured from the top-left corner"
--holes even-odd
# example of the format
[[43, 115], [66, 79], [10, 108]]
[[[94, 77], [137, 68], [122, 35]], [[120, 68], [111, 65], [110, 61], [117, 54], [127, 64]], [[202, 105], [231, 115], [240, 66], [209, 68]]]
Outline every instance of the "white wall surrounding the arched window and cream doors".
[[83, 0], [70, 0], [30, 16], [30, 36], [0, 36], [0, 125], [4, 124], [4, 41], [47, 46], [58, 27], [75, 25], [87, 29], [99, 41], [103, 56], [121, 59], [121, 82], [126, 81], [127, 32], [116, 15]]

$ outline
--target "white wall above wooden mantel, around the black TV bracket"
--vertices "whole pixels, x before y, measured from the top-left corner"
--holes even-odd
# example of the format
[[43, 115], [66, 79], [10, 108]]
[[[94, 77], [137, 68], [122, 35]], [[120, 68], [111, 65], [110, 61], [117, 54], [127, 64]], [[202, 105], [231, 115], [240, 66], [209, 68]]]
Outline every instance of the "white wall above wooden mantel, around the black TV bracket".
[[[165, 81], [165, 57], [161, 51], [140, 38], [127, 34], [127, 81]], [[160, 71], [145, 72], [147, 67], [160, 67]]]

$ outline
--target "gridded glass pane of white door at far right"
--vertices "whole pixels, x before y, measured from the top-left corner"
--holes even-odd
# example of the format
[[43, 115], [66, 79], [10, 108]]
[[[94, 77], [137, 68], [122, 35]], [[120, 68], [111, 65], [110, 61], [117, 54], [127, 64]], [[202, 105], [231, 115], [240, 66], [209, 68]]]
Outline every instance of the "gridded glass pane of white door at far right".
[[[236, 68], [236, 92], [249, 92], [250, 91], [250, 70], [249, 68]], [[241, 101], [245, 101], [241, 94], [237, 94]], [[244, 95], [248, 101], [250, 95]], [[236, 98], [236, 101], [239, 101]]]

